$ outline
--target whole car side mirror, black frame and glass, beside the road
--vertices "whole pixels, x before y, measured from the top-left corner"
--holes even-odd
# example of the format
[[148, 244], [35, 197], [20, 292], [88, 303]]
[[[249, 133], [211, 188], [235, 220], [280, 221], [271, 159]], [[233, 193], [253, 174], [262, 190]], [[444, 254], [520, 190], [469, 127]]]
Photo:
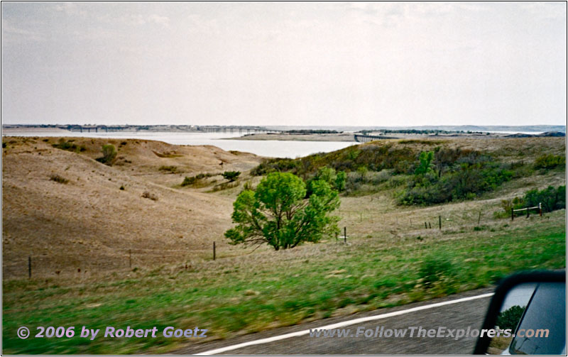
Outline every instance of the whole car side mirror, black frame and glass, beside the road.
[[566, 272], [519, 273], [498, 285], [474, 354], [566, 354]]

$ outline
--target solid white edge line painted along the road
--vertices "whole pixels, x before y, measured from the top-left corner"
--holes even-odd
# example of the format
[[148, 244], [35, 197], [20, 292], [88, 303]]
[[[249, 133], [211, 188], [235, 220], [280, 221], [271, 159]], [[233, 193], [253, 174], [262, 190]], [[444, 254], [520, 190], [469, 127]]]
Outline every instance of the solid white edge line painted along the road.
[[[466, 301], [476, 300], [476, 299], [483, 299], [484, 297], [491, 297], [491, 296], [493, 296], [493, 292], [490, 292], [488, 294], [471, 296], [471, 297], [462, 297], [461, 299], [456, 299], [456, 300], [437, 302], [435, 304], [422, 305], [422, 306], [413, 307], [413, 308], [410, 308], [410, 309], [399, 310], [399, 311], [395, 311], [395, 312], [388, 312], [386, 314], [379, 314], [379, 315], [368, 316], [368, 317], [360, 317], [359, 319], [352, 319], [352, 320], [347, 320], [347, 321], [343, 321], [343, 322], [337, 322], [337, 324], [331, 324], [331, 325], [327, 325], [327, 326], [316, 327], [315, 329], [320, 329], [320, 330], [339, 329], [340, 327], [354, 325], [354, 324], [360, 324], [361, 322], [373, 321], [373, 320], [378, 320], [378, 319], [386, 319], [387, 317], [393, 317], [393, 316], [398, 316], [398, 315], [403, 315], [403, 314], [410, 314], [410, 312], [417, 312], [417, 311], [426, 310], [426, 309], [433, 309], [434, 307], [440, 307], [440, 306], [449, 305], [449, 304], [459, 304], [460, 302], [466, 302]], [[312, 330], [315, 330], [315, 329], [312, 329]], [[297, 332], [291, 332], [290, 334], [283, 334], [283, 335], [280, 335], [280, 336], [267, 337], [266, 339], [259, 339], [259, 340], [255, 340], [255, 341], [244, 342], [242, 344], [236, 344], [236, 345], [233, 345], [233, 346], [226, 346], [226, 347], [216, 348], [216, 349], [210, 350], [210, 351], [196, 353], [196, 356], [214, 355], [214, 354], [217, 354], [217, 353], [223, 353], [223, 352], [226, 352], [226, 351], [236, 350], [238, 348], [243, 348], [243, 347], [246, 347], [246, 346], [268, 344], [268, 343], [274, 342], [274, 341], [280, 341], [280, 340], [283, 340], [283, 339], [290, 339], [292, 337], [303, 336], [303, 335], [306, 335], [306, 334], [309, 334], [309, 333], [310, 333], [310, 329], [303, 330], [303, 331], [297, 331]]]

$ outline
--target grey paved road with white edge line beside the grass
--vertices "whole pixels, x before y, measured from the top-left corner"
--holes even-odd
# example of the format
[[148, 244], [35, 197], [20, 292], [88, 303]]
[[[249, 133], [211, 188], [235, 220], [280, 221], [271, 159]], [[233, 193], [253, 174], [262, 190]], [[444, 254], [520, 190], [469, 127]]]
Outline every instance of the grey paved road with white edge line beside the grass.
[[[175, 354], [206, 353], [227, 346], [235, 346], [246, 342], [258, 341], [260, 339], [272, 339], [284, 334], [297, 333], [307, 329], [317, 329], [322, 326], [329, 326], [330, 324], [341, 324], [353, 319], [377, 317], [378, 315], [392, 314], [395, 312], [398, 313], [398, 315], [390, 317], [387, 315], [381, 319], [349, 324], [349, 326], [342, 326], [340, 328], [350, 329], [350, 334], [355, 334], [359, 327], [372, 329], [373, 331], [375, 331], [377, 327], [379, 329], [383, 327], [384, 331], [385, 329], [407, 329], [410, 326], [422, 326], [423, 329], [438, 329], [439, 326], [444, 326], [447, 329], [467, 329], [468, 327], [471, 329], [480, 329], [489, 301], [491, 300], [490, 297], [483, 297], [455, 304], [445, 304], [437, 307], [428, 307], [427, 309], [407, 312], [404, 314], [400, 314], [400, 312], [417, 307], [424, 308], [430, 304], [439, 302], [448, 302], [464, 297], [483, 295], [488, 292], [493, 292], [493, 288], [472, 290], [458, 295], [452, 295], [450, 297], [407, 304], [401, 307], [378, 309], [373, 312], [349, 315], [348, 317], [324, 319], [317, 322], [310, 322], [309, 324], [300, 324], [297, 326], [264, 331], [258, 334], [240, 336], [235, 339], [212, 341], [209, 343], [206, 342], [194, 346], [187, 346], [186, 348], [175, 351]], [[407, 336], [403, 338], [380, 338], [374, 336], [366, 338], [362, 334], [359, 337], [316, 338], [310, 337], [309, 334], [305, 334], [303, 336], [294, 336], [286, 339], [280, 339], [278, 341], [221, 351], [217, 354], [469, 354], [474, 350], [476, 342], [476, 338], [474, 337], [464, 337], [458, 340], [452, 337], [416, 337], [415, 331], [415, 336], [410, 338], [408, 334], [410, 334], [410, 330], [408, 330]]]

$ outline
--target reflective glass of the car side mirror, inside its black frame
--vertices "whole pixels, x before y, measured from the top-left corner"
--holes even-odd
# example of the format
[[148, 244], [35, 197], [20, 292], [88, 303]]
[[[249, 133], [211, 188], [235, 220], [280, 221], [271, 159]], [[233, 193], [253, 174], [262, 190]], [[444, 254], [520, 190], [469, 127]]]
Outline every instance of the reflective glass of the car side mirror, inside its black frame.
[[566, 290], [563, 283], [513, 287], [501, 305], [488, 354], [564, 354]]

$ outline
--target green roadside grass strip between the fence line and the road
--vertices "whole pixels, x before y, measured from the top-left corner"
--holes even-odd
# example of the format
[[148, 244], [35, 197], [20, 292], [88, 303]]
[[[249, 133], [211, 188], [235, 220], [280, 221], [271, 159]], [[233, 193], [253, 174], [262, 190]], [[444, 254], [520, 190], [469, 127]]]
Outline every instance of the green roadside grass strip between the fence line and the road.
[[[209, 329], [207, 341], [493, 284], [566, 266], [565, 211], [416, 238], [359, 236], [290, 251], [116, 273], [3, 282], [3, 353], [164, 353], [198, 339], [36, 339], [36, 326]], [[354, 219], [356, 221], [356, 219]], [[435, 231], [435, 230], [432, 230]], [[19, 326], [31, 336], [18, 339]]]

